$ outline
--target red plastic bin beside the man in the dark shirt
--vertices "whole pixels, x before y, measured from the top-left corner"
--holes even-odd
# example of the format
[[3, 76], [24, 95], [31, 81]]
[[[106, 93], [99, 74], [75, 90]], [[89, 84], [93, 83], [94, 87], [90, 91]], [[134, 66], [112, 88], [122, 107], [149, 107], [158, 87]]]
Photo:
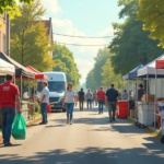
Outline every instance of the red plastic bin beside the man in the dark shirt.
[[126, 118], [128, 116], [128, 101], [119, 101], [118, 108], [119, 108], [119, 118]]

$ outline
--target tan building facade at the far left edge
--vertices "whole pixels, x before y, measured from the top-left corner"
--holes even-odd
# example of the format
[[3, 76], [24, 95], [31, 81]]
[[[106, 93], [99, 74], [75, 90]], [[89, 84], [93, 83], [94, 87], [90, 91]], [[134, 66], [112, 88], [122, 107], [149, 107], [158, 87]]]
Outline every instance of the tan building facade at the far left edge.
[[0, 51], [7, 54], [7, 12], [0, 15]]

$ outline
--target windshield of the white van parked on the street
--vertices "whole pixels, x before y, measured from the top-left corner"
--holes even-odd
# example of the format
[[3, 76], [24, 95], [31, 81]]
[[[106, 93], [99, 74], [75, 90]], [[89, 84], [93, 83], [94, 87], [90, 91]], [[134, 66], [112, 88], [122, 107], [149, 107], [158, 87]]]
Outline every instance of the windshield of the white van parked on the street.
[[65, 82], [48, 82], [49, 92], [63, 92], [66, 91]]

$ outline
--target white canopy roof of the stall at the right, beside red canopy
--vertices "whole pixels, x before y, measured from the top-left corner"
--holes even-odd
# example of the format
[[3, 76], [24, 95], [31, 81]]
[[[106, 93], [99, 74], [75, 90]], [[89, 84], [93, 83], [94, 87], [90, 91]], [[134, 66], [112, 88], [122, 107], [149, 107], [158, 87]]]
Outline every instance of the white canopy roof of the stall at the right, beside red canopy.
[[[139, 69], [138, 77], [147, 78], [147, 74], [148, 74], [149, 78], [155, 78], [155, 63], [156, 63], [156, 60], [160, 60], [160, 59], [164, 59], [164, 55], [160, 56], [159, 58], [145, 65], [143, 68]], [[164, 78], [163, 69], [157, 70], [157, 78]]]

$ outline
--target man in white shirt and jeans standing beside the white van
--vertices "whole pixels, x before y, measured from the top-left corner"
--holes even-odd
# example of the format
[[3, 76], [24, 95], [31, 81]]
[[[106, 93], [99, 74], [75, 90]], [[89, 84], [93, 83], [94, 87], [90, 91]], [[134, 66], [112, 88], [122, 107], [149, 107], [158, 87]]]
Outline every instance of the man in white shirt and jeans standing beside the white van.
[[47, 121], [47, 105], [49, 103], [49, 90], [47, 87], [46, 81], [42, 83], [42, 86], [43, 86], [43, 91], [39, 97], [39, 105], [40, 105], [40, 112], [43, 115], [43, 121], [39, 125], [45, 125], [48, 122]]

